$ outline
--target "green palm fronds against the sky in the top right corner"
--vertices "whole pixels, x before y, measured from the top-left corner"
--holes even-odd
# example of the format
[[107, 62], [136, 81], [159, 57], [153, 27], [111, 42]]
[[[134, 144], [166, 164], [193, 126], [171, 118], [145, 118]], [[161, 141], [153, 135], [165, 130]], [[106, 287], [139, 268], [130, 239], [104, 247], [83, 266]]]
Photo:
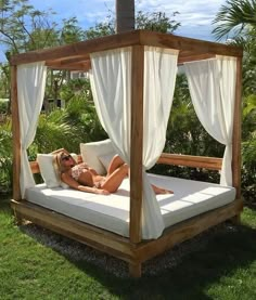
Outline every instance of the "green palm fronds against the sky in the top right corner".
[[222, 38], [235, 38], [244, 31], [256, 27], [256, 1], [255, 0], [228, 0], [221, 5], [213, 24], [217, 25], [213, 30], [217, 40]]

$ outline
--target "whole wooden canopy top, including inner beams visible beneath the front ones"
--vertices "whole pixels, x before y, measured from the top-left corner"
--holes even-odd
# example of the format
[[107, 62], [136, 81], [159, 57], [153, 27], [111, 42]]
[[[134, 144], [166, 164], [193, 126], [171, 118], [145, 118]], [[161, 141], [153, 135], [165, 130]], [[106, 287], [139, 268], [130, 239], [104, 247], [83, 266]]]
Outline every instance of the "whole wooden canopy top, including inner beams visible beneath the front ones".
[[[90, 53], [124, 48], [129, 45], [152, 45], [179, 50], [179, 63], [205, 60], [215, 55], [242, 57], [239, 47], [178, 37], [149, 30], [129, 32], [86, 40], [67, 45], [37, 50], [13, 55], [11, 65], [21, 65], [46, 61], [50, 68], [88, 69]], [[87, 61], [87, 63], [85, 63]]]

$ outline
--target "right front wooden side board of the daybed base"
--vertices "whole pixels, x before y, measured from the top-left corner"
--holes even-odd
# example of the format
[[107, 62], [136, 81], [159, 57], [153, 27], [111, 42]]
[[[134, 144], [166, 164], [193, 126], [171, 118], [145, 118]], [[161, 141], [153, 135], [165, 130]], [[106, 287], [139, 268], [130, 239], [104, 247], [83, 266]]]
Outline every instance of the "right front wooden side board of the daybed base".
[[175, 245], [180, 244], [221, 222], [239, 214], [242, 210], [242, 200], [236, 199], [230, 205], [210, 210], [167, 229], [158, 239], [141, 243], [137, 246], [138, 261], [149, 260]]

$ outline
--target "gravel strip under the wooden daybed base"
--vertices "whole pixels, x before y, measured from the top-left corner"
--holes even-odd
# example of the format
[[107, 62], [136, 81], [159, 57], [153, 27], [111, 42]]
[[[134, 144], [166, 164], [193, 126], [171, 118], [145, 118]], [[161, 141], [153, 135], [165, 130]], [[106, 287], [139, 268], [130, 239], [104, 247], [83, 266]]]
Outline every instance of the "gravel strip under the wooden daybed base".
[[[117, 277], [129, 277], [128, 263], [125, 261], [116, 259], [112, 256], [88, 247], [85, 244], [75, 242], [33, 223], [21, 225], [20, 229], [22, 232], [31, 236], [40, 244], [44, 245], [46, 247], [50, 247], [60, 255], [66, 257], [69, 261], [89, 262], [105, 270], [107, 273], [114, 274]], [[208, 240], [214, 236], [214, 234], [216, 234], [216, 232], [227, 230], [234, 231], [235, 227], [230, 224], [222, 223], [208, 231], [205, 231], [190, 240], [175, 246], [172, 249], [164, 252], [163, 255], [144, 262], [142, 264], [142, 275], [155, 276], [159, 275], [166, 270], [176, 268], [182, 261], [182, 258], [189, 255], [191, 251], [200, 251], [206, 248]]]

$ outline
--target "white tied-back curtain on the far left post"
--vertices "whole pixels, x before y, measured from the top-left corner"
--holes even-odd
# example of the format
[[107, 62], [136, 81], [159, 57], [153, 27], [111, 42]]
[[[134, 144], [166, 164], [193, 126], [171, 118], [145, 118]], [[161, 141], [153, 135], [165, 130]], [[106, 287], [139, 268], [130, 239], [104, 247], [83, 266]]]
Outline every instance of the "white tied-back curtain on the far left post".
[[44, 62], [17, 66], [17, 101], [21, 130], [21, 194], [25, 197], [27, 187], [35, 181], [30, 170], [27, 148], [34, 141], [38, 117], [46, 89], [47, 67]]

